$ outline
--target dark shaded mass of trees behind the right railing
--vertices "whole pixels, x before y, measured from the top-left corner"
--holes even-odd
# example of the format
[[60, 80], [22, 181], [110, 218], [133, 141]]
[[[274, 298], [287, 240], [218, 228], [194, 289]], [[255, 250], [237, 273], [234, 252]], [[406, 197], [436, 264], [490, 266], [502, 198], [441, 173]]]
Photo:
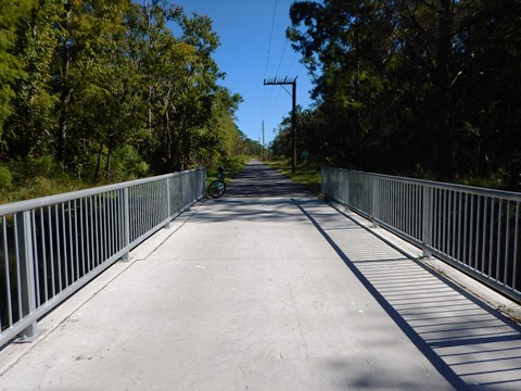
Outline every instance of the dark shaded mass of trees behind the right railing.
[[[300, 151], [322, 163], [519, 189], [521, 1], [296, 1], [315, 83]], [[274, 152], [289, 150], [289, 118]]]

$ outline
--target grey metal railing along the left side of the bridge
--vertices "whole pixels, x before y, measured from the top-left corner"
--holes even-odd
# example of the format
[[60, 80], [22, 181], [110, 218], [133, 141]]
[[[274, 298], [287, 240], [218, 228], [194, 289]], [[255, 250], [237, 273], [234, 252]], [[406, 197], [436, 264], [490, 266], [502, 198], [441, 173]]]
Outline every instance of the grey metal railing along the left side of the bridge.
[[0, 205], [0, 346], [204, 194], [204, 168]]

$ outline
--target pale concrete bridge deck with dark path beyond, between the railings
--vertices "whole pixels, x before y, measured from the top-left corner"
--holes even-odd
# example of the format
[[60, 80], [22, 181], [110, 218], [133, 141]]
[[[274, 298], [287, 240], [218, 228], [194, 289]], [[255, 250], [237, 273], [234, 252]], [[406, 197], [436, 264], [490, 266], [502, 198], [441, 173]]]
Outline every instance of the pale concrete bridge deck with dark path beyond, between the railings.
[[518, 325], [355, 219], [250, 164], [0, 351], [0, 390], [521, 389]]

